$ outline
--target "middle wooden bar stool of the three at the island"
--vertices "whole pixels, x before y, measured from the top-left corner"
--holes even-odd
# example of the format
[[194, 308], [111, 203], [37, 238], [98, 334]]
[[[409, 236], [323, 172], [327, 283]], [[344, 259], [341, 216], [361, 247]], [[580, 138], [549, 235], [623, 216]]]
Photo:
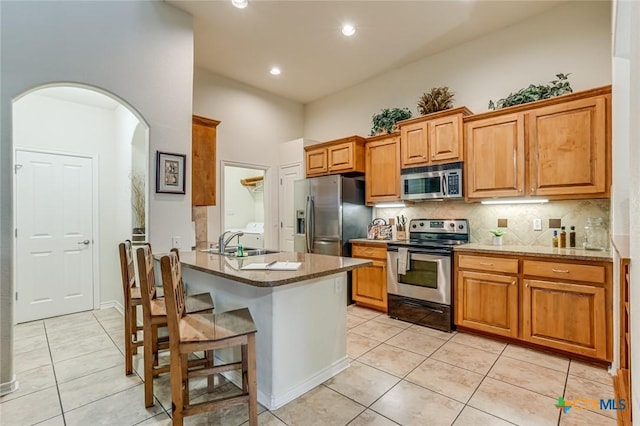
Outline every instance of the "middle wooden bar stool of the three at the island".
[[[145, 244], [136, 250], [138, 260], [138, 276], [140, 279], [140, 295], [142, 299], [142, 327], [144, 333], [144, 403], [146, 407], [153, 405], [153, 378], [169, 371], [170, 364], [159, 365], [158, 328], [167, 326], [167, 310], [165, 299], [157, 297], [156, 278], [153, 268], [151, 245]], [[174, 253], [177, 257], [177, 254]], [[184, 286], [183, 286], [184, 287]], [[183, 295], [184, 297], [184, 295]], [[213, 312], [213, 300], [210, 293], [202, 293], [185, 297], [187, 312]], [[164, 346], [168, 348], [167, 345]], [[213, 352], [205, 353], [205, 359], [194, 360], [190, 364], [197, 366], [212, 366]], [[213, 386], [213, 380], [209, 382]]]

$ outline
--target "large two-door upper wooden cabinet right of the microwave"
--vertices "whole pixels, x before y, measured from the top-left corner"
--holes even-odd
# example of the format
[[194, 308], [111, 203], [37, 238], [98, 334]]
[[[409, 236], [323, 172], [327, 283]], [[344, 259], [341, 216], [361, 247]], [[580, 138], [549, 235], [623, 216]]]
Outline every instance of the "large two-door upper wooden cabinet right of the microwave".
[[467, 200], [609, 197], [611, 86], [464, 122]]

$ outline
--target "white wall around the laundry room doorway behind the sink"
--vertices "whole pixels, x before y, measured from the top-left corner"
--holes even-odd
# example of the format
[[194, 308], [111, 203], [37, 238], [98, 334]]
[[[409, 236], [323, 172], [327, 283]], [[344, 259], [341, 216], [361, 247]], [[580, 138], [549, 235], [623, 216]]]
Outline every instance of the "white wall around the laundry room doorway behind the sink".
[[[278, 246], [278, 144], [302, 135], [303, 106], [196, 68], [193, 113], [220, 120], [217, 127], [217, 189], [221, 161], [269, 168], [264, 189], [265, 247]], [[218, 197], [219, 199], [220, 197]], [[208, 208], [209, 240], [220, 234], [220, 203]]]

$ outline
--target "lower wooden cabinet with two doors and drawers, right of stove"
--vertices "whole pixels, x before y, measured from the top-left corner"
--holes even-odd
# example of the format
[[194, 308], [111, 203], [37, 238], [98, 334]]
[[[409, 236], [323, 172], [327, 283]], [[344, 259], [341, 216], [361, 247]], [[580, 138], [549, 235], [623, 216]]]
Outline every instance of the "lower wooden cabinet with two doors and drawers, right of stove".
[[612, 264], [456, 253], [456, 325], [611, 361]]

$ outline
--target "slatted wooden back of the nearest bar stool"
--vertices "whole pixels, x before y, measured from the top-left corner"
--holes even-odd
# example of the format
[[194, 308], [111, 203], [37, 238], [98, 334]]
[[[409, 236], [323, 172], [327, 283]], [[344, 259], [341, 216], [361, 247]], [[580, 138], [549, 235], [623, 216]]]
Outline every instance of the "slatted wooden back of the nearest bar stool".
[[160, 259], [162, 271], [162, 287], [164, 288], [164, 300], [167, 309], [167, 326], [169, 336], [177, 336], [177, 340], [170, 339], [170, 346], [177, 346], [180, 341], [180, 319], [185, 314], [184, 284], [182, 282], [182, 269], [178, 256], [171, 252]]

